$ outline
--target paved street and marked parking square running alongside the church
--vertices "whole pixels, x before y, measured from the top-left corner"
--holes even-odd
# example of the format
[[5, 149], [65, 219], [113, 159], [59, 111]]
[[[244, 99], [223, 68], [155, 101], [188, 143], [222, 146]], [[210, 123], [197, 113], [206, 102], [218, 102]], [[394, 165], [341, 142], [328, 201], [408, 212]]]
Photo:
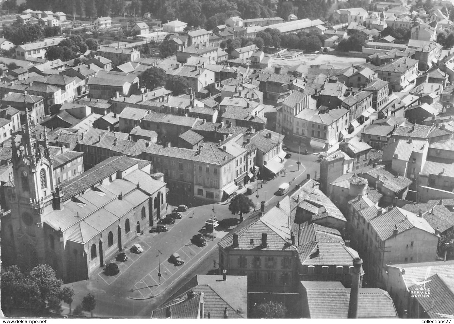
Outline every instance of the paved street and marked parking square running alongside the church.
[[[301, 162], [299, 170], [296, 163], [298, 157]], [[276, 196], [276, 191], [282, 183], [290, 182], [295, 178], [291, 183], [289, 191], [291, 193], [296, 184], [306, 179], [307, 173], [312, 178], [315, 177], [320, 168], [320, 164], [315, 160], [315, 155], [299, 156], [297, 153], [292, 153], [291, 158], [284, 162], [285, 173], [266, 183], [259, 180], [248, 184], [248, 187], [253, 186], [253, 192], [249, 198], [257, 204], [256, 209], [260, 208], [261, 201], [266, 201], [266, 205], [271, 206], [279, 201], [281, 196]], [[214, 240], [206, 238], [207, 245], [199, 247], [192, 244], [192, 236], [199, 234], [205, 221], [212, 217], [213, 207], [217, 221], [224, 226], [217, 228], [217, 237]], [[190, 207], [188, 211], [181, 214], [182, 219], [176, 220], [173, 225], [167, 225], [168, 232], [149, 233], [147, 229], [143, 235], [138, 235], [129, 242], [128, 249], [138, 243], [143, 248], [142, 253], [133, 254], [125, 249], [123, 252], [128, 255], [128, 260], [125, 262], [115, 261], [114, 258], [108, 260], [106, 264], [109, 262], [118, 264], [120, 273], [117, 275], [104, 275], [103, 269], [99, 268], [89, 280], [65, 285], [73, 288], [75, 292], [72, 309], [91, 292], [97, 301], [94, 316], [149, 318], [153, 309], [156, 309], [194, 275], [213, 273], [213, 270], [217, 269], [217, 242], [237, 224], [239, 216], [232, 215], [228, 205], [220, 203]], [[247, 218], [249, 214], [243, 216]], [[228, 224], [231, 226], [228, 227]], [[162, 253], [159, 257], [158, 250]], [[183, 265], [176, 266], [169, 262], [170, 255], [175, 252], [181, 256]], [[161, 285], [159, 285], [159, 270], [162, 274]], [[84, 313], [89, 316], [88, 313]], [[68, 305], [63, 304], [62, 314], [69, 314]]]

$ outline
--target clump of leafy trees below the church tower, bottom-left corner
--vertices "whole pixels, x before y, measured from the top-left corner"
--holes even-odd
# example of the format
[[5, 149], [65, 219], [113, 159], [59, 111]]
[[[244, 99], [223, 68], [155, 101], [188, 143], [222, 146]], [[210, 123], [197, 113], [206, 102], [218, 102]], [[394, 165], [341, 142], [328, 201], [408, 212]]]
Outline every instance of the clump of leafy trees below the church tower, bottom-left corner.
[[60, 309], [60, 302], [74, 291], [62, 288], [49, 265], [37, 265], [30, 272], [22, 272], [18, 266], [1, 266], [0, 287], [2, 309], [22, 307], [35, 314], [45, 310]]

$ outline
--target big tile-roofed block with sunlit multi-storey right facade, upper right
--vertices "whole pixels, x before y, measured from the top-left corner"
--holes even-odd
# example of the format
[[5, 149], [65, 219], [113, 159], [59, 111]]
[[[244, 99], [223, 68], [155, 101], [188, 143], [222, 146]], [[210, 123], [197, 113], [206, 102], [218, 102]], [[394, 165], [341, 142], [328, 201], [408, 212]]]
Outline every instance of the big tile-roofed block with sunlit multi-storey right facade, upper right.
[[415, 80], [418, 72], [418, 60], [400, 58], [390, 64], [380, 65], [375, 71], [379, 79], [390, 83], [390, 90], [400, 91]]

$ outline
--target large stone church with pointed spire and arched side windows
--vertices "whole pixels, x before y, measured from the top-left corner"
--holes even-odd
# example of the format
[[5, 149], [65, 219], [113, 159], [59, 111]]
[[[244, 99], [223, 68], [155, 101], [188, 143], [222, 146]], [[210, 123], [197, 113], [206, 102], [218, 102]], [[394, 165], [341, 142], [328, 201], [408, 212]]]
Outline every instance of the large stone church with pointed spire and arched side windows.
[[39, 145], [26, 113], [12, 138], [11, 210], [1, 215], [4, 265], [51, 265], [65, 282], [86, 280], [165, 216], [166, 183], [151, 162], [110, 157], [57, 185], [47, 136]]

